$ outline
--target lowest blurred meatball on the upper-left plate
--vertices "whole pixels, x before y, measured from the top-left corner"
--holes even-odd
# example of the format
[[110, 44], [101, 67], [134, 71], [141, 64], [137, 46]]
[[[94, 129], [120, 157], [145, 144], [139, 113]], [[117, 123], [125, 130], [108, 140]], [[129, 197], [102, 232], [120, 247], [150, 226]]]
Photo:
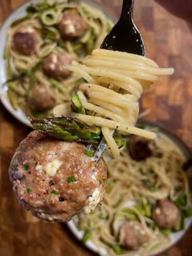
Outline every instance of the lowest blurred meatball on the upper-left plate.
[[27, 102], [30, 109], [37, 112], [50, 110], [56, 104], [56, 101], [50, 96], [47, 87], [41, 84], [33, 87]]

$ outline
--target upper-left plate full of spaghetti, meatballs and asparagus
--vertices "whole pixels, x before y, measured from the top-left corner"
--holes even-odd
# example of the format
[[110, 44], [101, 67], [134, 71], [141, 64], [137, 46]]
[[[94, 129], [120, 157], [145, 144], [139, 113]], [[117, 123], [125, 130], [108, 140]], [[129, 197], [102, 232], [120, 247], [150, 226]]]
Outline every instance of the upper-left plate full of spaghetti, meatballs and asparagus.
[[65, 65], [99, 48], [113, 21], [89, 1], [33, 1], [13, 12], [1, 30], [3, 104], [28, 125], [27, 116], [69, 106], [82, 79]]

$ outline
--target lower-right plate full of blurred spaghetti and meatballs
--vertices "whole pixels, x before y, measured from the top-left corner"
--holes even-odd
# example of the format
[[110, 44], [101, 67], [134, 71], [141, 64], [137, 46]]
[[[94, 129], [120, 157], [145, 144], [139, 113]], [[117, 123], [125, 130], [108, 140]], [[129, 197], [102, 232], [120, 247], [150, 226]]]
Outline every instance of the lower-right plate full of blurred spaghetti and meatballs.
[[[134, 160], [128, 149], [131, 136], [118, 158], [112, 159], [111, 153], [105, 152], [107, 187], [103, 204], [67, 223], [79, 240], [100, 255], [154, 255], [181, 239], [191, 224], [191, 170], [186, 172], [185, 164], [190, 151], [167, 128], [147, 121], [141, 125], [157, 133], [152, 155]], [[174, 217], [165, 214], [170, 214], [170, 208], [172, 216], [175, 209], [176, 214], [179, 212], [176, 224]], [[165, 214], [163, 221], [168, 222], [157, 220], [154, 212], [160, 217]], [[162, 227], [165, 225], [169, 227]], [[125, 232], [126, 227], [131, 234]]]

